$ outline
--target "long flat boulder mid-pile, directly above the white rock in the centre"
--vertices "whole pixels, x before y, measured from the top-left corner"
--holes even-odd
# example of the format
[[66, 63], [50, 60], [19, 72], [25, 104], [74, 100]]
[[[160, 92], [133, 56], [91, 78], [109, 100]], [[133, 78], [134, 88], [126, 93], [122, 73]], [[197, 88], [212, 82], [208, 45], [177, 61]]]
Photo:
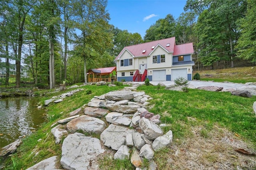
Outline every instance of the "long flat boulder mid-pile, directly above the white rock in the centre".
[[121, 112], [121, 113], [135, 113], [140, 106], [128, 106], [128, 105], [119, 105], [119, 104], [107, 104], [106, 108], [112, 110], [114, 112]]

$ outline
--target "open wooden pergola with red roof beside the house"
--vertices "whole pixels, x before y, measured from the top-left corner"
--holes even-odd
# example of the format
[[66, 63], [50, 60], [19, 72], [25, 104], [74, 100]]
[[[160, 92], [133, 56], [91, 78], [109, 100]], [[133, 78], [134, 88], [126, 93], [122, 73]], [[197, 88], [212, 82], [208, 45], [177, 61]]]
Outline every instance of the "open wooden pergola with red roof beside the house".
[[111, 82], [110, 73], [116, 71], [116, 67], [94, 68], [87, 72], [88, 82]]

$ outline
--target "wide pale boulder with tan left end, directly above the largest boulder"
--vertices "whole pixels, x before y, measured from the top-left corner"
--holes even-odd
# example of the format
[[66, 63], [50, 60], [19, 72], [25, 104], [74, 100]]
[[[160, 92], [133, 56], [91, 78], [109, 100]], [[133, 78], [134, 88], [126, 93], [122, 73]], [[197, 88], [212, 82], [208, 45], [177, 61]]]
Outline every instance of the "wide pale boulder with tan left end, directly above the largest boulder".
[[71, 132], [82, 130], [83, 132], [101, 134], [105, 128], [105, 122], [98, 118], [93, 118], [87, 115], [82, 115], [67, 123], [67, 130]]

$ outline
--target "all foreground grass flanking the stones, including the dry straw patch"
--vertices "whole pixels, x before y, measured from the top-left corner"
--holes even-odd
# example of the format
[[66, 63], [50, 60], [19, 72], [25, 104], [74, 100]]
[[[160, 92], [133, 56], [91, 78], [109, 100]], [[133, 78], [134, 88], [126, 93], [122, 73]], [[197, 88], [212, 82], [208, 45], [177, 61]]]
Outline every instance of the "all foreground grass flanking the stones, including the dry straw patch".
[[[55, 144], [55, 139], [50, 133], [51, 124], [68, 117], [71, 111], [87, 104], [94, 96], [100, 96], [110, 90], [119, 90], [122, 87], [83, 86], [84, 90], [74, 96], [65, 98], [58, 104], [50, 104], [47, 107], [50, 116], [48, 122], [40, 130], [23, 140], [17, 152], [9, 158], [5, 170], [26, 169], [54, 155], [60, 159], [63, 140], [60, 144]], [[86, 94], [88, 90], [92, 93]], [[189, 169], [188, 167], [207, 169], [216, 166], [219, 169], [234, 169], [241, 165], [242, 161], [251, 159], [240, 155], [236, 159], [231, 155], [236, 154], [234, 147], [250, 146], [249, 149], [256, 149], [256, 117], [252, 109], [256, 96], [243, 98], [232, 96], [229, 92], [209, 92], [197, 89], [190, 89], [185, 93], [164, 90], [164, 87], [158, 86], [140, 86], [138, 90], [145, 91], [147, 95], [153, 97], [150, 100], [148, 111], [161, 115], [162, 123], [167, 124], [162, 128], [164, 133], [169, 130], [173, 132], [172, 144], [155, 152], [154, 161], [158, 169]], [[46, 97], [51, 98], [53, 95], [57, 96], [66, 91], [46, 94]], [[99, 138], [94, 134], [86, 135]], [[37, 142], [39, 138], [42, 139], [41, 142]], [[226, 138], [229, 142], [233, 141], [232, 145], [222, 141]], [[37, 152], [39, 153], [35, 155]], [[99, 160], [100, 168], [135, 169], [129, 159], [114, 160], [113, 156], [114, 152], [108, 150]], [[230, 168], [218, 166], [219, 163], [224, 164], [223, 162], [230, 162]], [[143, 166], [148, 166], [148, 163], [144, 161]]]

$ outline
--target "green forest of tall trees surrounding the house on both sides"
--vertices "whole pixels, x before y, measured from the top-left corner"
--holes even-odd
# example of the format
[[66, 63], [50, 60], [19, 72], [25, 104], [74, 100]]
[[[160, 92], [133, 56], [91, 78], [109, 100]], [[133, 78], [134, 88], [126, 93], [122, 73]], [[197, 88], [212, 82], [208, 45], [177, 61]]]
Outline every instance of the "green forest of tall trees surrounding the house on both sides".
[[[125, 46], [176, 37], [193, 42], [195, 69], [218, 62], [234, 67], [256, 63], [255, 0], [187, 0], [178, 18], [168, 14], [138, 33], [110, 25], [107, 0], [0, 0], [0, 81], [9, 86], [15, 61], [16, 87], [22, 82], [87, 82], [91, 68], [115, 66]], [[170, 11], [171, 13], [171, 11]], [[29, 76], [22, 78], [21, 65]], [[12, 75], [14, 76], [14, 75]]]

